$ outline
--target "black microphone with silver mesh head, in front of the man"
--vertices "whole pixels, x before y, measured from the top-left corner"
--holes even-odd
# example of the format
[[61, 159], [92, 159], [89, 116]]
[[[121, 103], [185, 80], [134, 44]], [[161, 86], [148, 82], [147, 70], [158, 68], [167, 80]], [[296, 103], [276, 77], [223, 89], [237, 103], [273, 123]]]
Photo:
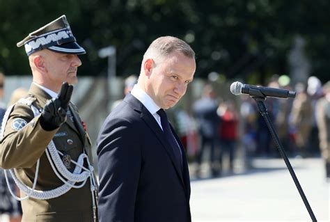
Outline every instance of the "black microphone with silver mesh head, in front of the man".
[[279, 98], [294, 98], [296, 92], [282, 89], [282, 88], [270, 88], [262, 86], [253, 86], [248, 84], [242, 84], [239, 81], [233, 82], [230, 86], [230, 92], [234, 95], [249, 94], [253, 97], [279, 97]]

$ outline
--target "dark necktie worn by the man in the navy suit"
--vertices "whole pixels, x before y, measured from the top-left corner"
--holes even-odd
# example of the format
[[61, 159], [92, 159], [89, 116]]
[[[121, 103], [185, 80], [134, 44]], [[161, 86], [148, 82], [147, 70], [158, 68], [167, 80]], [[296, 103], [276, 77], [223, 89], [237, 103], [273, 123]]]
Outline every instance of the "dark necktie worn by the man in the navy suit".
[[162, 128], [163, 128], [165, 137], [166, 137], [167, 141], [171, 144], [171, 147], [173, 149], [175, 161], [177, 161], [178, 166], [180, 166], [180, 169], [182, 170], [181, 150], [178, 145], [178, 142], [176, 141], [176, 139], [171, 131], [170, 124], [168, 123], [166, 113], [165, 113], [164, 109], [159, 109], [159, 111], [157, 111], [157, 113], [160, 116], [160, 120], [162, 122]]

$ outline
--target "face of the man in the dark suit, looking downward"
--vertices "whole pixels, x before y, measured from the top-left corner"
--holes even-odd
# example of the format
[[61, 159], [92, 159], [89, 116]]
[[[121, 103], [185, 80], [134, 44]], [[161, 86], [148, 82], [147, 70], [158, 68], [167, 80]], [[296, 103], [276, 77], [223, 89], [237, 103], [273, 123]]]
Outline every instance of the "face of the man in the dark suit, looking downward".
[[173, 53], [158, 64], [154, 61], [152, 63], [152, 68], [147, 71], [147, 93], [157, 106], [169, 109], [179, 102], [186, 93], [189, 82], [193, 80], [195, 60]]

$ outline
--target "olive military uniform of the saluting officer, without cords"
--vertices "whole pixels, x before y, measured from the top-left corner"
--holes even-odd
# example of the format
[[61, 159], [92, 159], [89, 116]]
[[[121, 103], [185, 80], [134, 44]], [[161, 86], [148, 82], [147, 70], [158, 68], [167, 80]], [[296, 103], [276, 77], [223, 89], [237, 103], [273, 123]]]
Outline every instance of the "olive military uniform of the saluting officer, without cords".
[[[29, 95], [28, 99], [32, 100], [33, 106], [40, 111], [47, 100], [52, 99], [35, 84], [31, 84]], [[45, 154], [45, 149], [52, 139], [56, 148], [70, 155], [72, 160], [77, 161], [79, 154], [86, 152], [92, 162], [91, 141], [84, 130], [77, 108], [70, 103], [69, 109], [72, 117], [68, 116], [59, 129], [45, 131], [40, 126], [40, 115], [34, 117], [30, 106], [16, 104], [10, 113], [1, 141], [0, 167], [15, 168], [17, 177], [32, 187], [36, 177], [36, 163], [40, 158], [36, 190], [49, 191], [63, 185]], [[18, 118], [25, 120], [27, 124], [17, 131], [14, 123]], [[87, 166], [86, 161], [84, 166]], [[70, 164], [68, 170], [72, 172], [74, 167], [74, 164]], [[21, 191], [21, 197], [23, 196], [25, 194]], [[90, 180], [88, 178], [84, 187], [72, 188], [58, 198], [22, 200], [22, 209], [23, 221], [93, 221]]]

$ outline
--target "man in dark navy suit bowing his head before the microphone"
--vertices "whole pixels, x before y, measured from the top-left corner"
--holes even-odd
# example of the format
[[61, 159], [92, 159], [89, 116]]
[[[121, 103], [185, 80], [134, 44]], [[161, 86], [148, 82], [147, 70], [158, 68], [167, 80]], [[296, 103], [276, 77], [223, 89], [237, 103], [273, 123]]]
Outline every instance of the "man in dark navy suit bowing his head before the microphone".
[[100, 221], [191, 221], [187, 159], [164, 109], [187, 90], [195, 53], [171, 36], [143, 56], [138, 83], [97, 138]]

